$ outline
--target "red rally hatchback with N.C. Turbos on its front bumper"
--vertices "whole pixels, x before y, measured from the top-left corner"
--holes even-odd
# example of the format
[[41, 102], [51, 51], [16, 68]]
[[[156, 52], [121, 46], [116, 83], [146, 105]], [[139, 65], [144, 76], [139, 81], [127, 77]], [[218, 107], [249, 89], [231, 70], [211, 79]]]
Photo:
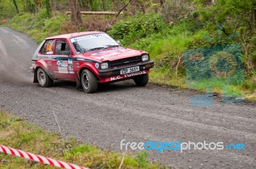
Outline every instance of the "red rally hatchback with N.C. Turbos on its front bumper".
[[154, 67], [147, 52], [121, 47], [108, 34], [83, 32], [46, 38], [32, 57], [34, 83], [50, 87], [53, 80], [77, 82], [85, 92], [96, 92], [98, 83], [132, 78], [148, 83]]

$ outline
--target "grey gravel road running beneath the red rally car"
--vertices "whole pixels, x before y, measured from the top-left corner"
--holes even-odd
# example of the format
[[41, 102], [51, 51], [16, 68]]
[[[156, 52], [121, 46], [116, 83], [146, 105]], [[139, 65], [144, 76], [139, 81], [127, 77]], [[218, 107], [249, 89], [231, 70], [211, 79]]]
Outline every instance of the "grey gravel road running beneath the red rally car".
[[32, 83], [33, 73], [29, 71], [36, 47], [25, 34], [0, 27], [2, 110], [49, 131], [58, 131], [56, 114], [64, 136], [115, 151], [120, 151], [123, 139], [124, 143], [244, 143], [245, 150], [149, 152], [153, 161], [178, 168], [256, 168], [254, 104], [223, 104], [220, 98], [214, 98], [213, 107], [196, 108], [190, 104], [196, 92], [152, 84], [136, 87], [131, 81], [102, 85], [95, 94], [77, 90], [70, 82], [42, 88]]

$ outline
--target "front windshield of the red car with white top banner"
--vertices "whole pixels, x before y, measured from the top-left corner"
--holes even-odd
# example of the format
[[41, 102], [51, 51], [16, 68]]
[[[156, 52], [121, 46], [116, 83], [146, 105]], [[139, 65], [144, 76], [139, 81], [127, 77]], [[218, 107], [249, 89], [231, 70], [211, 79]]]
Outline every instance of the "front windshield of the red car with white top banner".
[[77, 54], [108, 47], [120, 46], [108, 34], [90, 34], [70, 39]]

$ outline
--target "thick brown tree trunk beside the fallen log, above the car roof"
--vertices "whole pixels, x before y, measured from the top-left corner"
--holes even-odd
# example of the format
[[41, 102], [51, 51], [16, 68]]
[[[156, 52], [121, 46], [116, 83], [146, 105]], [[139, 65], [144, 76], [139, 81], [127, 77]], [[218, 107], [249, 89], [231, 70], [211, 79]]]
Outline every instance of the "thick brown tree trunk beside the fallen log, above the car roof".
[[82, 17], [80, 13], [80, 7], [78, 0], [68, 0], [69, 7], [71, 9], [71, 21], [75, 25], [82, 24]]

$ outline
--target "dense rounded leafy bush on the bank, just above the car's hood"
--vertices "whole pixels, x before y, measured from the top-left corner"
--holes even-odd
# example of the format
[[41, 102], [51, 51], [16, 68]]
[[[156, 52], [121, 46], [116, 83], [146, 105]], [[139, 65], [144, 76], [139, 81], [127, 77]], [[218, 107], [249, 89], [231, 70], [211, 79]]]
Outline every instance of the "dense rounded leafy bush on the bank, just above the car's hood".
[[116, 40], [120, 40], [122, 45], [129, 45], [140, 38], [159, 33], [164, 29], [168, 29], [168, 26], [164, 23], [163, 18], [155, 13], [148, 13], [120, 20], [108, 33]]

